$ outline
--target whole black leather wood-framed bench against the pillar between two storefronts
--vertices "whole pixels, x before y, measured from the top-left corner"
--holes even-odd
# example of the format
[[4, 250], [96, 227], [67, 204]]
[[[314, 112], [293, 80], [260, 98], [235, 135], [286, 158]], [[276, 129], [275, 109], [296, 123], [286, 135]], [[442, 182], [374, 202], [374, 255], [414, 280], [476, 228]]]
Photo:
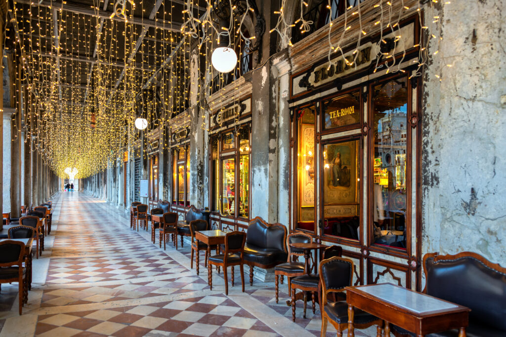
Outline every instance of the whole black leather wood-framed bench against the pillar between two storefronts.
[[266, 223], [261, 217], [249, 221], [244, 245], [244, 263], [249, 266], [249, 284], [253, 284], [253, 266], [273, 268], [285, 263], [286, 227], [279, 223]]

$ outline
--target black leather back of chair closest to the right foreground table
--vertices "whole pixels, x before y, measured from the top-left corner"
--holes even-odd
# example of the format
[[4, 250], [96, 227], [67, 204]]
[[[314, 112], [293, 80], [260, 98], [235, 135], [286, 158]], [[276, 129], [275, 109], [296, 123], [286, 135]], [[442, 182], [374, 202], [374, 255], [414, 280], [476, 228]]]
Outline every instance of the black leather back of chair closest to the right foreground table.
[[333, 257], [320, 262], [320, 279], [326, 290], [341, 290], [350, 286], [353, 279], [353, 262]]

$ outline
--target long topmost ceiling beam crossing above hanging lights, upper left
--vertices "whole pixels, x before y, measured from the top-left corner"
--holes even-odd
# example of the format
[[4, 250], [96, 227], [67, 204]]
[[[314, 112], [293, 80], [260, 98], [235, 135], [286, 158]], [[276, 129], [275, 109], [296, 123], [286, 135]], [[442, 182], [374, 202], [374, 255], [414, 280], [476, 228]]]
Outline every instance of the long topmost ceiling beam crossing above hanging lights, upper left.
[[[31, 5], [31, 6], [41, 6], [41, 7], [53, 8], [53, 9], [56, 8], [59, 11], [63, 10], [66, 12], [89, 15], [89, 16], [93, 16], [93, 17], [110, 19], [110, 20], [114, 20], [114, 21], [121, 21], [121, 22], [125, 21], [124, 19], [122, 19], [118, 16], [114, 16], [111, 19], [110, 17], [112, 15], [112, 12], [104, 11], [104, 10], [95, 10], [95, 9], [88, 7], [88, 6], [78, 5], [78, 4], [69, 3], [69, 2], [64, 2], [62, 4], [62, 2], [59, 2], [59, 1], [51, 2], [48, 0], [40, 0], [39, 2], [36, 2], [35, 0], [16, 0], [16, 3]], [[157, 3], [158, 3], [158, 1], [157, 1]], [[150, 16], [149, 19], [144, 19], [144, 18], [140, 18], [140, 17], [133, 17], [133, 18], [128, 18], [128, 19], [129, 19], [129, 22], [136, 24], [136, 25], [141, 25], [143, 27], [152, 27], [152, 28], [158, 28], [158, 29], [162, 29], [162, 30], [181, 32], [181, 23], [169, 22], [169, 21], [158, 20], [158, 19], [154, 20], [155, 19], [154, 16], [153, 17]]]

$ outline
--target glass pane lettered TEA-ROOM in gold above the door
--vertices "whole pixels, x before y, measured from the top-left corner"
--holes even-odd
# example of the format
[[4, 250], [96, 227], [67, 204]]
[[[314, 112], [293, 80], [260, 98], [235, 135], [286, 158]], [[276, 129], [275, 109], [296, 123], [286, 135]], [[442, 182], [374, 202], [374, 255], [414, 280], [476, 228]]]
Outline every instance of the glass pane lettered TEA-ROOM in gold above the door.
[[323, 102], [323, 130], [360, 123], [360, 91], [354, 91]]

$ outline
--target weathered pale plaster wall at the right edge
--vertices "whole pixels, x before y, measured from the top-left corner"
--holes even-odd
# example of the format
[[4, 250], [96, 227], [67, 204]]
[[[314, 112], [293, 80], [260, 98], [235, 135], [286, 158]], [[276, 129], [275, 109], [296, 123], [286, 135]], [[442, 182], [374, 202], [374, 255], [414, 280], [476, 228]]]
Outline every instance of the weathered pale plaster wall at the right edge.
[[[442, 13], [424, 79], [423, 254], [473, 251], [506, 265], [505, 10], [480, 0]], [[441, 65], [451, 67], [440, 82]]]

